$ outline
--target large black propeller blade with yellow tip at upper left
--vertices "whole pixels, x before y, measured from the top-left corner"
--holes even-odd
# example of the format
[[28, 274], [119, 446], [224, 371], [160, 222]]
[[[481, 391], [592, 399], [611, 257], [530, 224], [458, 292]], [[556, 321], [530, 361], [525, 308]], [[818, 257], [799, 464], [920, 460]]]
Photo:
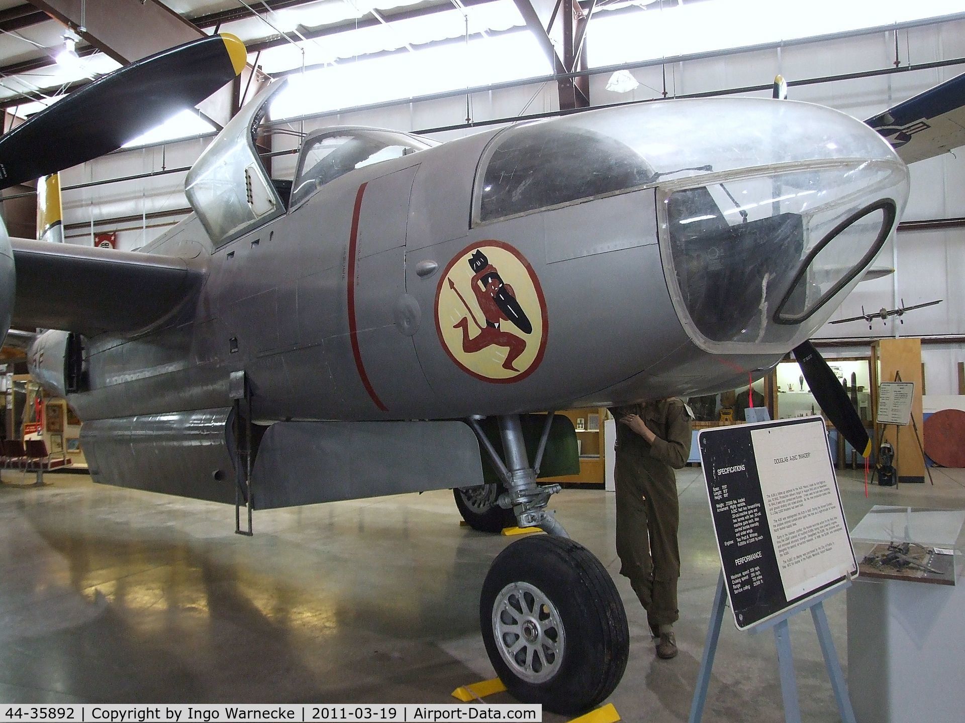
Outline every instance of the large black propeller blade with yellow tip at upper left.
[[245, 67], [244, 43], [207, 36], [108, 73], [0, 137], [0, 188], [124, 146], [191, 108]]

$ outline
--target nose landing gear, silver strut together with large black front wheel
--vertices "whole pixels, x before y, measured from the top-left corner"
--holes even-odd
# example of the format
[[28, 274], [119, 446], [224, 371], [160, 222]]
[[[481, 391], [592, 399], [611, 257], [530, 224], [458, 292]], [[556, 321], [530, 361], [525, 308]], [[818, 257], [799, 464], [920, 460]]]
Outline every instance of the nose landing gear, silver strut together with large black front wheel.
[[560, 491], [559, 485], [537, 484], [552, 422], [550, 414], [531, 466], [518, 415], [499, 417], [505, 461], [479, 420], [470, 419], [506, 491], [499, 494], [490, 484], [455, 494], [456, 503], [462, 494], [463, 502], [488, 505], [490, 516], [511, 508], [520, 527], [549, 533], [527, 536], [493, 561], [480, 597], [480, 627], [489, 661], [513, 696], [575, 713], [599, 705], [620, 683], [630, 635], [613, 578], [590, 550], [566, 539], [546, 509], [550, 495]]

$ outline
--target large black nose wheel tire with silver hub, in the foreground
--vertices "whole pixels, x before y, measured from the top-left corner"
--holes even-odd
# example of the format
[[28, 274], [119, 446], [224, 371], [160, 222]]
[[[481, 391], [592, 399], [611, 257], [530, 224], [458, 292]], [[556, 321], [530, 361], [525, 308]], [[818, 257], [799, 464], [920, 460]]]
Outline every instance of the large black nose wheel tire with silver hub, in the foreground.
[[527, 536], [496, 557], [483, 582], [480, 626], [510, 693], [556, 713], [605, 701], [630, 651], [613, 578], [590, 550], [562, 537]]

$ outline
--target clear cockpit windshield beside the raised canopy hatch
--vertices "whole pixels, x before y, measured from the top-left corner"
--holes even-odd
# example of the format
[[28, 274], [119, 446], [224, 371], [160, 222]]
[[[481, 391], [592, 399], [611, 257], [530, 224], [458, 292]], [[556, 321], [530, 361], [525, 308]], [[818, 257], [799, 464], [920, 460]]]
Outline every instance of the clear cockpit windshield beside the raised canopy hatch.
[[308, 199], [326, 183], [357, 168], [400, 158], [430, 147], [408, 133], [378, 128], [326, 128], [305, 139], [291, 190], [291, 206]]

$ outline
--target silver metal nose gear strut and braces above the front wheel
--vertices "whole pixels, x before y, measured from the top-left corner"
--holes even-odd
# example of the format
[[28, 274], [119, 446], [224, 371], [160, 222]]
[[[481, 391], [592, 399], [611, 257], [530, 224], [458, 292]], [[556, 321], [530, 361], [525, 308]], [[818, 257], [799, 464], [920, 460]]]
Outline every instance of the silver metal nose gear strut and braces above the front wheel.
[[[498, 417], [498, 420], [499, 436], [501, 442], [503, 442], [503, 451], [506, 455], [505, 462], [496, 452], [492, 442], [489, 442], [489, 438], [483, 433], [479, 420], [475, 418], [469, 420], [469, 424], [476, 432], [476, 436], [489, 456], [489, 461], [506, 487], [506, 492], [499, 495], [495, 504], [503, 509], [511, 509], [516, 518], [516, 524], [520, 527], [539, 527], [551, 535], [568, 537], [563, 525], [557, 522], [553, 513], [546, 509], [550, 496], [560, 492], [562, 488], [560, 485], [540, 486], [537, 484], [539, 463], [542, 461], [546, 441], [549, 439], [553, 414], [546, 415], [546, 423], [539, 440], [536, 461], [532, 466], [526, 453], [526, 442], [523, 438], [519, 415], [503, 415]], [[470, 521], [467, 520], [467, 522]]]

